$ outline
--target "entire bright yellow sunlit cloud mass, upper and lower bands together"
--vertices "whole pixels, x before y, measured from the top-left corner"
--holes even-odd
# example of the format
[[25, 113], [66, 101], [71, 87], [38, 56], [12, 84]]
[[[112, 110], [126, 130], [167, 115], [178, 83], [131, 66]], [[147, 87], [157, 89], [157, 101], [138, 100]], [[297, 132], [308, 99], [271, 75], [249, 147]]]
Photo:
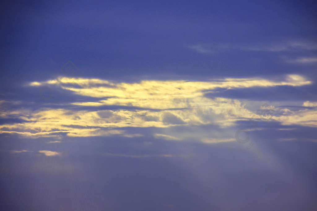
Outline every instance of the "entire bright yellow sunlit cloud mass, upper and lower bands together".
[[[68, 78], [62, 78], [60, 88], [64, 89], [63, 84], [69, 81]], [[54, 83], [55, 80], [48, 80], [32, 82], [29, 86], [40, 88]], [[219, 89], [225, 91], [255, 87], [296, 87], [308, 84], [312, 84], [312, 82], [296, 74], [286, 75], [283, 79], [278, 80], [223, 78], [213, 81], [146, 80], [139, 83], [115, 83], [102, 79], [80, 78], [71, 90], [74, 96], [91, 96], [89, 101], [61, 103], [59, 108], [49, 106], [40, 109], [0, 107], [1, 118], [19, 117], [23, 120], [1, 125], [0, 133], [16, 134], [32, 139], [40, 137], [59, 139], [63, 136], [133, 138], [141, 136], [142, 133], [130, 134], [127, 128], [167, 129], [208, 124], [227, 128], [236, 125], [236, 121], [251, 117], [254, 113], [246, 109], [239, 100], [224, 97], [210, 98], [209, 93], [214, 93]], [[3, 103], [10, 104], [9, 101]], [[298, 113], [288, 111], [283, 115], [296, 116]], [[311, 114], [302, 113], [301, 115]], [[294, 120], [288, 116], [288, 118], [281, 118], [280, 121], [291, 124]], [[312, 120], [309, 122], [309, 125], [314, 125]], [[297, 123], [304, 124], [300, 121]], [[154, 134], [161, 134], [160, 138], [167, 140], [176, 140], [180, 137], [184, 139], [181, 134], [178, 134], [177, 138], [159, 131], [153, 131], [152, 135]], [[159, 136], [156, 135], [156, 137]]]

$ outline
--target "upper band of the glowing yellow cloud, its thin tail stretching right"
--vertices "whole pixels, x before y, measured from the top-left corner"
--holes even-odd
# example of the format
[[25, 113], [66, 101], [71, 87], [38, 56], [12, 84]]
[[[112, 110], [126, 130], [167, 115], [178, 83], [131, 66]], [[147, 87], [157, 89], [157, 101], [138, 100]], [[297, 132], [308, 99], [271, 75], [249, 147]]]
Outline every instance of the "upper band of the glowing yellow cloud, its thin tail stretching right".
[[[293, 78], [290, 78], [292, 77]], [[297, 78], [294, 78], [296, 76]], [[290, 80], [292, 79], [292, 80]], [[67, 78], [61, 79], [63, 83], [71, 81]], [[55, 80], [46, 82], [30, 83], [30, 86], [45, 86], [54, 84]], [[287, 75], [285, 81], [275, 82], [264, 78], [225, 78], [222, 80], [202, 82], [202, 81], [141, 81], [140, 83], [114, 83], [101, 79], [84, 79], [81, 78], [76, 86], [70, 88], [74, 94], [79, 96], [91, 96], [96, 98], [107, 98], [99, 102], [83, 102], [72, 103], [74, 105], [84, 106], [101, 106], [101, 105], [124, 105], [138, 106], [145, 108], [161, 109], [164, 106], [164, 99], [167, 96], [176, 97], [194, 97], [202, 96], [203, 90], [214, 90], [217, 88], [248, 88], [248, 87], [269, 87], [277, 85], [301, 86], [311, 84], [305, 78], [299, 75]], [[59, 84], [61, 89], [66, 89], [66, 86]], [[152, 104], [146, 102], [152, 99], [158, 99], [157, 103]], [[167, 98], [169, 99], [169, 98]], [[141, 100], [141, 101], [140, 101]], [[175, 105], [175, 103], [173, 103]], [[170, 104], [163, 108], [175, 108]]]

